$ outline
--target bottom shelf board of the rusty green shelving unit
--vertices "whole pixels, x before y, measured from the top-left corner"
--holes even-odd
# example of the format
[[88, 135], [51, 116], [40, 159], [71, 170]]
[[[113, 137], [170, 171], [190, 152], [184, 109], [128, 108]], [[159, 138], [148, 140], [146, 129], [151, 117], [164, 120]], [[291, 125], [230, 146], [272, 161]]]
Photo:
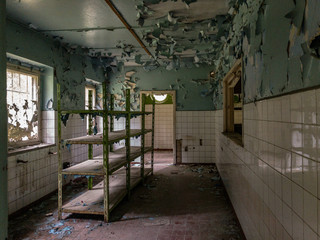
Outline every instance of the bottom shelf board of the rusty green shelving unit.
[[[145, 168], [145, 176], [151, 173], [150, 168]], [[131, 168], [130, 188], [137, 186], [142, 178], [140, 168]], [[117, 204], [126, 196], [126, 169], [121, 168], [113, 175], [109, 176], [109, 210], [114, 209]], [[62, 211], [66, 213], [96, 214], [103, 215], [103, 181], [86, 190], [80, 196], [66, 203]]]

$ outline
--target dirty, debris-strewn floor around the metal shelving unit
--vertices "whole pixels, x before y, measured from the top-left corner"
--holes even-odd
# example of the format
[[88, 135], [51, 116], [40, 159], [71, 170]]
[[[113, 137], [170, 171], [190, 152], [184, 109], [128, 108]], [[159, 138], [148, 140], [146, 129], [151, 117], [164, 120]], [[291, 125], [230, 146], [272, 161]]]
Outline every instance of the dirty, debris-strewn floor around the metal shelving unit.
[[[110, 223], [75, 214], [58, 221], [54, 194], [11, 217], [9, 239], [244, 240], [215, 166], [174, 166], [170, 156], [156, 153], [154, 175], [114, 209]], [[83, 180], [66, 188], [67, 198], [85, 187]]]

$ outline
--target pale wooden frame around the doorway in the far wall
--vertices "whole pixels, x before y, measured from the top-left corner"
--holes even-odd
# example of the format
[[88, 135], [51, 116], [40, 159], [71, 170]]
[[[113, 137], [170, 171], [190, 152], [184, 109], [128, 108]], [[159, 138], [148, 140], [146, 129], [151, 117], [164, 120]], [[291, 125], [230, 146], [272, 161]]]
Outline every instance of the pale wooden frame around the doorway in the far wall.
[[[176, 143], [176, 109], [177, 109], [177, 103], [176, 103], [176, 91], [175, 90], [141, 90], [140, 91], [140, 103], [142, 102], [142, 94], [168, 94], [172, 96], [172, 102], [173, 102], [173, 109], [172, 109], [172, 129], [173, 129], [173, 136], [172, 136], [172, 143], [173, 143], [173, 164], [177, 163], [177, 143]], [[141, 104], [140, 104], [140, 110], [141, 110]]]

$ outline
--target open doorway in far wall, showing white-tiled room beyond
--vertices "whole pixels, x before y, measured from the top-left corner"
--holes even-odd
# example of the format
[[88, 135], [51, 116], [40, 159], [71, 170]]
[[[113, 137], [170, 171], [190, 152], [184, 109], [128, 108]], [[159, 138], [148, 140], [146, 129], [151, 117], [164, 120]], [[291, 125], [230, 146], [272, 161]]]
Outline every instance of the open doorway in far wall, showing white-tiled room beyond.
[[[146, 111], [152, 111], [155, 100], [154, 163], [176, 164], [176, 92], [141, 91], [146, 94]], [[146, 128], [152, 128], [152, 115], [146, 117]], [[151, 146], [151, 134], [146, 136], [146, 145]]]

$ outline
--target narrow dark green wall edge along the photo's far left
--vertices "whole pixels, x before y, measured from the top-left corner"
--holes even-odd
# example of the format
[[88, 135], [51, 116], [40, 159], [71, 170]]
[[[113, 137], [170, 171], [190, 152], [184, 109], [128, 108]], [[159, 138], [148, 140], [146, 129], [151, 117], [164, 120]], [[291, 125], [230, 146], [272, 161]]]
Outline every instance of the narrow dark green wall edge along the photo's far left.
[[6, 1], [0, 1], [0, 239], [8, 237]]

